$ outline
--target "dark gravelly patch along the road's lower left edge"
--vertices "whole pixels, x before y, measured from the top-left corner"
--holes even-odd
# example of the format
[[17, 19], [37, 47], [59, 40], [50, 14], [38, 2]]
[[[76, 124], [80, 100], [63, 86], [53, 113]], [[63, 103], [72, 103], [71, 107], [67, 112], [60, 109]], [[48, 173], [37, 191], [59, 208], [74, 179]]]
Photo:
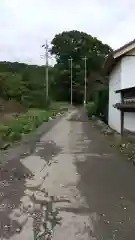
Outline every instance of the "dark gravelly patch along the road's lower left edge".
[[18, 208], [25, 190], [25, 179], [30, 174], [18, 159], [0, 165], [0, 239], [8, 239], [16, 233], [16, 229], [22, 227], [12, 221], [9, 215]]

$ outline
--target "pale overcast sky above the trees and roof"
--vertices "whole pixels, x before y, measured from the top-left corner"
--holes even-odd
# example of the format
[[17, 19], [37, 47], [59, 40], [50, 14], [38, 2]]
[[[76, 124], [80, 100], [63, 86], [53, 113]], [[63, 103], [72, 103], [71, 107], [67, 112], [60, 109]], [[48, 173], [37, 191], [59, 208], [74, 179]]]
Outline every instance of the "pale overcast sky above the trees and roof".
[[117, 49], [135, 38], [134, 13], [135, 0], [0, 0], [0, 61], [42, 65], [41, 45], [64, 30]]

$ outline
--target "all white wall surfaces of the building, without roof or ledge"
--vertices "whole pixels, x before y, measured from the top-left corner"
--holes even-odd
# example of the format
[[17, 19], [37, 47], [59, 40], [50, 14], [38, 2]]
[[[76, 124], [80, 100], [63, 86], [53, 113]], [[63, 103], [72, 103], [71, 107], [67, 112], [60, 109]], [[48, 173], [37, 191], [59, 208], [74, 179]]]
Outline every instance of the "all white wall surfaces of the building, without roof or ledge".
[[[108, 123], [117, 132], [121, 131], [121, 113], [113, 105], [121, 102], [121, 95], [115, 91], [130, 87], [135, 87], [135, 49], [128, 52], [110, 74]], [[135, 132], [135, 113], [124, 113], [124, 129]]]

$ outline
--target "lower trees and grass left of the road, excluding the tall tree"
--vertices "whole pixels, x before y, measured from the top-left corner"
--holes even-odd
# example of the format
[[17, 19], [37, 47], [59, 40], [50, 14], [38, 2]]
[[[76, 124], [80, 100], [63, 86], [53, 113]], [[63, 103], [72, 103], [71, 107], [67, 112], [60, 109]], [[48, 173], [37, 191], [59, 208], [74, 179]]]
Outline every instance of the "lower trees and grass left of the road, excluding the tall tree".
[[0, 148], [5, 149], [5, 145], [8, 147], [20, 140], [48, 121], [49, 117], [67, 110], [66, 102], [51, 101], [51, 91], [46, 101], [44, 83], [45, 67], [7, 62], [0, 64]]

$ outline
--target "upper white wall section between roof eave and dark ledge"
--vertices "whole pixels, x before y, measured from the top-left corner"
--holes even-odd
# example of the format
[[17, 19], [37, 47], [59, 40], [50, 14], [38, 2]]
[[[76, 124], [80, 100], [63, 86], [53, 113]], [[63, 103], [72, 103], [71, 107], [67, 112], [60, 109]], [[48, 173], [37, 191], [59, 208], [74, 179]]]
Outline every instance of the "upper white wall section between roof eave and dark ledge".
[[122, 58], [121, 62], [122, 62], [121, 63], [121, 89], [134, 87], [135, 86], [135, 56], [134, 55], [125, 56]]

